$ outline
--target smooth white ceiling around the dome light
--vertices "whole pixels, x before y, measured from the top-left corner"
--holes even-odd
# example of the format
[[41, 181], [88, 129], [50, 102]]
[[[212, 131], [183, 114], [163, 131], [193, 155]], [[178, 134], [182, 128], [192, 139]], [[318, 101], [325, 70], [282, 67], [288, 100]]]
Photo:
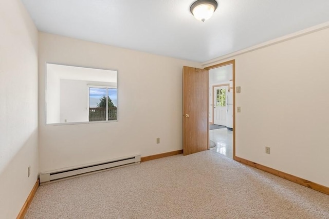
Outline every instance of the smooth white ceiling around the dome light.
[[328, 0], [217, 0], [205, 23], [194, 0], [21, 0], [40, 31], [205, 62], [329, 21]]

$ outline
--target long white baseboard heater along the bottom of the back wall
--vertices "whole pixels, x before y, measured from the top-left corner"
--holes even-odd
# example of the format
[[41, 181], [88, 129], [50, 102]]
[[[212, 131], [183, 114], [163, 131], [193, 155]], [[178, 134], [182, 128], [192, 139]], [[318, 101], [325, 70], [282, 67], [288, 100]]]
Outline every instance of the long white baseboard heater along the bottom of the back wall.
[[69, 168], [66, 170], [58, 170], [53, 172], [40, 173], [40, 183], [59, 180], [66, 177], [76, 176], [89, 172], [125, 166], [129, 164], [140, 163], [140, 155], [118, 158], [116, 160], [104, 161], [100, 163], [89, 164], [86, 166]]

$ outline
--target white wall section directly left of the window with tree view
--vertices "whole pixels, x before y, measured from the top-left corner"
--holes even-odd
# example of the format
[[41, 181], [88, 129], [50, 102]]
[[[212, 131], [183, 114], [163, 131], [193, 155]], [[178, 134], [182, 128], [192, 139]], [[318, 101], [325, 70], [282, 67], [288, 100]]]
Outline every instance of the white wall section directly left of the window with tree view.
[[86, 81], [61, 79], [61, 123], [88, 122]]

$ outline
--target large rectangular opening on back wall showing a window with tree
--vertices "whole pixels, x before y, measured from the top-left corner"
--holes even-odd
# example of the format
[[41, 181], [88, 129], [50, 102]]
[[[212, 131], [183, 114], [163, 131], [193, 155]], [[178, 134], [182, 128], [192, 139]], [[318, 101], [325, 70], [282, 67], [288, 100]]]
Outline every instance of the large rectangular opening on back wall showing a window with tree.
[[47, 124], [116, 121], [116, 70], [47, 64]]

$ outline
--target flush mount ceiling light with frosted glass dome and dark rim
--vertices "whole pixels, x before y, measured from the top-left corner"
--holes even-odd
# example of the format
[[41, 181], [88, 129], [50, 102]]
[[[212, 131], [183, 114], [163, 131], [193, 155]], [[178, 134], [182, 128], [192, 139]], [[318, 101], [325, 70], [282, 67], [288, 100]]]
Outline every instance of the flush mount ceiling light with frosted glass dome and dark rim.
[[196, 19], [205, 22], [212, 16], [216, 8], [215, 0], [197, 0], [191, 5], [190, 11]]

